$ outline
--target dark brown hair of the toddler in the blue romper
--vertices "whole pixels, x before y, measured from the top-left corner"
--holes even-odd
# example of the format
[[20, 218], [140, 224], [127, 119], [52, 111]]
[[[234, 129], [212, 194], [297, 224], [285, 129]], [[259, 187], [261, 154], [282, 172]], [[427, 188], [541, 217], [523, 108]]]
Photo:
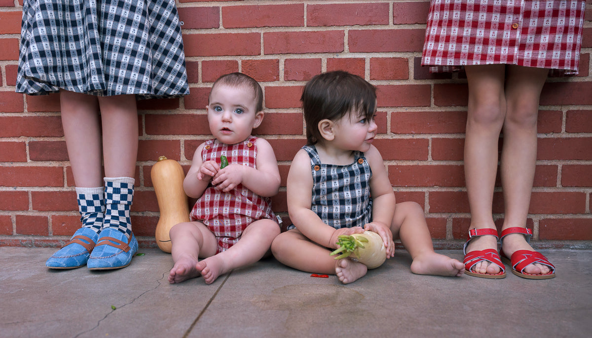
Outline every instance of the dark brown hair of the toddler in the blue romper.
[[342, 70], [318, 74], [310, 79], [300, 100], [308, 144], [316, 144], [322, 139], [318, 122], [323, 119], [337, 121], [347, 113], [361, 113], [371, 119], [376, 111], [375, 87]]

